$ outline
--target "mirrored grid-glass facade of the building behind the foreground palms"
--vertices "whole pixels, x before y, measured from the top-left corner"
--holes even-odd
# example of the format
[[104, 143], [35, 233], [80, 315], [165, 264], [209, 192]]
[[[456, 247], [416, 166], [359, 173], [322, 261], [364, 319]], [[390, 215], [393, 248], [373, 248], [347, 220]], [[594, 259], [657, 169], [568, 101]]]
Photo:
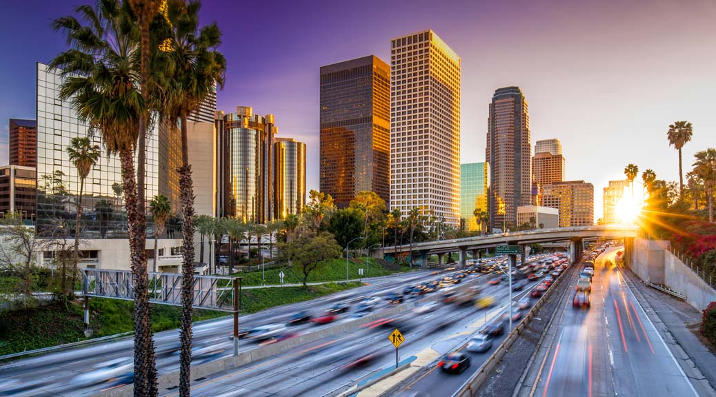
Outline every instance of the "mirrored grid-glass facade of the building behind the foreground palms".
[[[79, 175], [66, 148], [73, 137], [89, 137], [93, 144], [100, 145], [102, 155], [84, 181], [82, 238], [126, 238], [127, 216], [119, 157], [107, 155], [100, 133], [90, 134], [87, 124], [77, 119], [71, 103], [59, 99], [61, 83], [58, 71], [37, 64], [37, 230], [41, 235], [51, 233], [58, 218], [74, 227]], [[159, 192], [169, 195], [166, 187], [171, 185], [169, 181], [159, 188], [160, 178], [169, 175], [165, 170], [172, 168], [168, 159], [175, 149], [168, 144], [158, 129], [147, 134], [147, 205]], [[172, 183], [178, 185], [176, 181]], [[153, 221], [147, 217], [147, 237], [153, 237], [153, 232]], [[165, 235], [181, 238], [178, 220], [173, 218], [168, 222]]]

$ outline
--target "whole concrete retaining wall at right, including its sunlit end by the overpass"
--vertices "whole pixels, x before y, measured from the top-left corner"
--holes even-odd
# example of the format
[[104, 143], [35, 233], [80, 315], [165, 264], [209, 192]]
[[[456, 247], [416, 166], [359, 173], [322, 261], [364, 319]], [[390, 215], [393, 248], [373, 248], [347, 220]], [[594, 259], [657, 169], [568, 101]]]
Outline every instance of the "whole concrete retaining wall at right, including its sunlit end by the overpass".
[[716, 290], [670, 253], [668, 247], [668, 241], [635, 238], [629, 267], [642, 280], [666, 285], [686, 296], [686, 301], [697, 310], [704, 310], [716, 301]]

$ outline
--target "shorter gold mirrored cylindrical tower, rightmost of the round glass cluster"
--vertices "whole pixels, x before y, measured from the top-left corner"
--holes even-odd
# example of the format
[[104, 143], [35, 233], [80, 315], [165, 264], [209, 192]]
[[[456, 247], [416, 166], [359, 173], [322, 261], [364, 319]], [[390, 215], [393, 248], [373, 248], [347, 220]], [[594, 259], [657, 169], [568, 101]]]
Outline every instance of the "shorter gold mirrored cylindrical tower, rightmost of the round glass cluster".
[[276, 186], [276, 217], [299, 215], [306, 205], [306, 144], [291, 138], [278, 138], [274, 143], [274, 180]]

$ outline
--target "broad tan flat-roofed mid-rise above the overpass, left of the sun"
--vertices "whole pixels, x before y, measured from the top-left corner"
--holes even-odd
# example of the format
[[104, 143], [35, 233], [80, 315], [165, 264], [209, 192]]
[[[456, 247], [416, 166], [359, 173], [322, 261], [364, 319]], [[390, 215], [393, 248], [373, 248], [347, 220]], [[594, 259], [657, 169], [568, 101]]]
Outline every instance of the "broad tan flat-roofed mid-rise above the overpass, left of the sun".
[[542, 187], [543, 207], [559, 210], [559, 227], [594, 225], [594, 185], [583, 180], [548, 183]]

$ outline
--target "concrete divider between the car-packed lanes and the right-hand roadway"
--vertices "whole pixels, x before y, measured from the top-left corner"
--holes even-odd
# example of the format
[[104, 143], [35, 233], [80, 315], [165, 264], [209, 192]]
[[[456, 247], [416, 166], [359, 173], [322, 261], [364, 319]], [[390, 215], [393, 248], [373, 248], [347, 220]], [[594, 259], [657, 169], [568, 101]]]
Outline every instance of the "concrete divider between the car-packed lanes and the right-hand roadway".
[[480, 366], [480, 369], [468, 379], [468, 381], [465, 381], [463, 383], [463, 386], [460, 387], [460, 390], [456, 391], [453, 394], [453, 397], [466, 397], [466, 396], [475, 396], [480, 388], [482, 386], [485, 379], [488, 378], [490, 373], [492, 373], [495, 370], [495, 366], [502, 360], [503, 356], [505, 356], [505, 353], [511, 348], [513, 343], [519, 338], [522, 331], [527, 327], [527, 324], [532, 320], [532, 318], [535, 316], [537, 311], [546, 303], [546, 301], [551, 297], [552, 293], [556, 291], [559, 285], [563, 283], [563, 280], [565, 279], [571, 279], [571, 277], [566, 278], [564, 277], [565, 273], [570, 272], [570, 276], [574, 274], [574, 269], [579, 267], [579, 263], [574, 263], [569, 266], [569, 270], [562, 273], [559, 278], [555, 281], [555, 283], [542, 295], [542, 297], [535, 303], [530, 311], [525, 315], [525, 317], [517, 324], [517, 326], [512, 330], [509, 335], [507, 335], [507, 338], [503, 340], [500, 345], [495, 348], [494, 353], [490, 358], [488, 358], [485, 363], [483, 363], [482, 366]]

